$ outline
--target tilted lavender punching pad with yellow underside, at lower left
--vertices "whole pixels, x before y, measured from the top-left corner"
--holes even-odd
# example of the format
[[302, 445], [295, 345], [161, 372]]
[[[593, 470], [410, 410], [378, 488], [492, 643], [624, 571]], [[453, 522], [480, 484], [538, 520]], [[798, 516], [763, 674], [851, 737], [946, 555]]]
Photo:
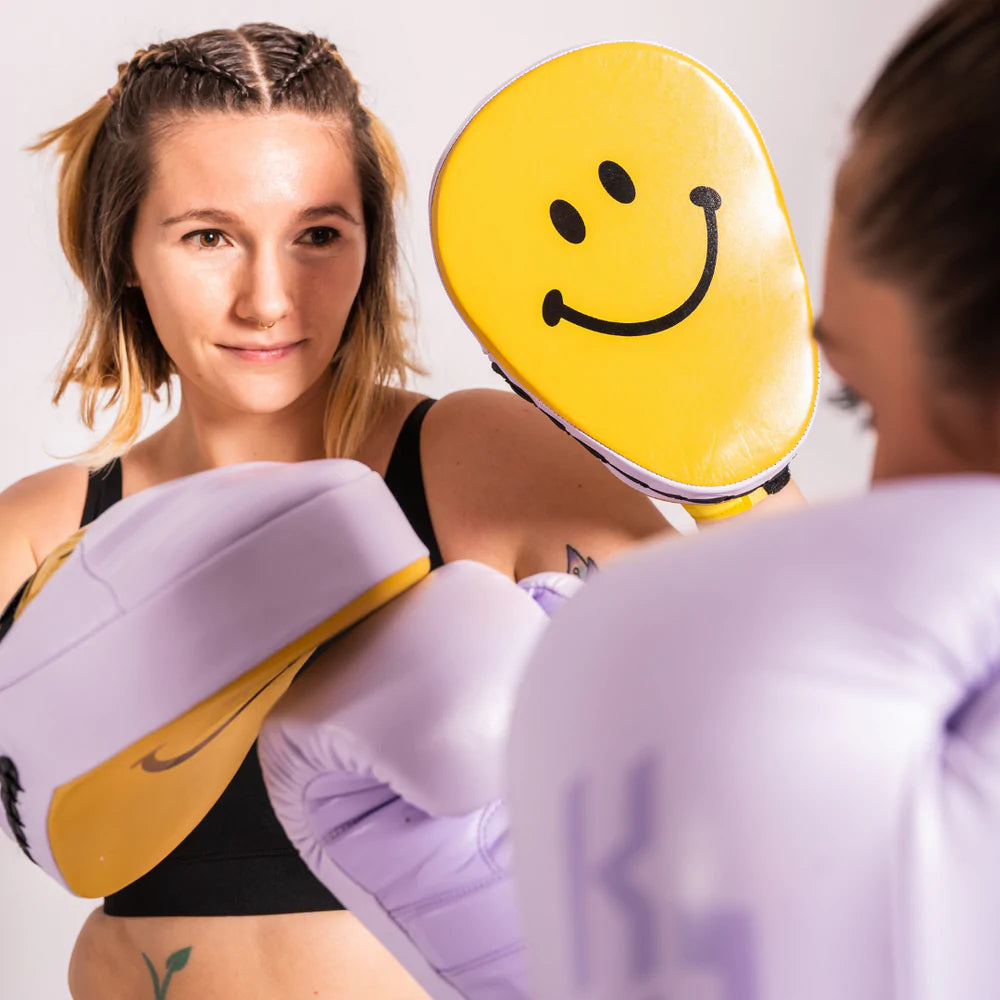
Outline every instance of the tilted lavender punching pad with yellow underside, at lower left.
[[127, 497], [0, 617], [0, 829], [78, 895], [134, 881], [208, 812], [317, 645], [428, 569], [358, 462]]

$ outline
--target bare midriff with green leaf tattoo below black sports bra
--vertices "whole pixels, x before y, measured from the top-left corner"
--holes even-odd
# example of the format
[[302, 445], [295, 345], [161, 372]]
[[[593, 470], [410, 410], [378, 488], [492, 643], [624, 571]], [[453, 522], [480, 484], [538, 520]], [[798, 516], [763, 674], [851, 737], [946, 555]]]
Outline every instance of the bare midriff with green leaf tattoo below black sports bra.
[[97, 909], [77, 939], [69, 985], [73, 1000], [428, 1000], [344, 910], [109, 917]]

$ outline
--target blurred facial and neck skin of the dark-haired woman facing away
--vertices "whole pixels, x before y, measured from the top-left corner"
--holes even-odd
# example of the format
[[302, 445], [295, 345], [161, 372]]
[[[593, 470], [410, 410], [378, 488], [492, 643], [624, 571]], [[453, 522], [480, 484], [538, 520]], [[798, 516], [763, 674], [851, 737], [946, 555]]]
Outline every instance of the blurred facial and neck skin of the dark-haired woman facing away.
[[862, 401], [877, 434], [872, 478], [988, 471], [982, 406], [945, 388], [901, 288], [865, 273], [851, 253], [850, 185], [838, 185], [816, 339]]

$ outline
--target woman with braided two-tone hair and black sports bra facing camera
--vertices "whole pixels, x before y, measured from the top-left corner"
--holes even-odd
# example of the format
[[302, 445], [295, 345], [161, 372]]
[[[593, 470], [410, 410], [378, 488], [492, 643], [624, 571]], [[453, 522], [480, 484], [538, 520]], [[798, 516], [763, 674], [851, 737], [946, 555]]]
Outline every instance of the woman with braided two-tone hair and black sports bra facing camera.
[[[154, 45], [50, 145], [62, 244], [87, 295], [55, 398], [80, 385], [93, 427], [110, 392], [115, 420], [89, 475], [63, 465], [0, 495], [0, 605], [121, 496], [250, 460], [360, 459], [434, 564], [476, 559], [515, 579], [582, 571], [666, 530], [513, 395], [431, 407], [390, 384], [414, 370], [396, 285], [400, 168], [329, 42], [251, 24]], [[137, 441], [143, 394], [172, 376], [176, 417]], [[94, 911], [70, 987], [76, 1000], [421, 995], [301, 864], [255, 750], [174, 854]]]

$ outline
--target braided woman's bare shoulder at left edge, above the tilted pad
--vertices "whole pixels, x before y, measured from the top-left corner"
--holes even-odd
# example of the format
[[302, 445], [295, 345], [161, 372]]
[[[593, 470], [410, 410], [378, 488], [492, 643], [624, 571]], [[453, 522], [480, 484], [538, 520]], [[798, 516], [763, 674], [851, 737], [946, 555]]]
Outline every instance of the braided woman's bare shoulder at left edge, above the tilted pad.
[[87, 470], [72, 464], [25, 476], [0, 493], [0, 604], [77, 529], [86, 495]]

